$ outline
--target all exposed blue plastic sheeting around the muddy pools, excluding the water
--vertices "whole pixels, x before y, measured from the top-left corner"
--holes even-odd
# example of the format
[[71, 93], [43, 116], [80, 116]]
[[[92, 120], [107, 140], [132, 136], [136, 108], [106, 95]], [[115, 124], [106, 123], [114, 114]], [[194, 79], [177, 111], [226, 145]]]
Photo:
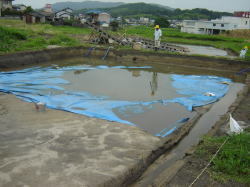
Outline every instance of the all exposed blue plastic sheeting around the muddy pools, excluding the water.
[[[43, 102], [48, 108], [69, 111], [77, 114], [96, 117], [109, 121], [135, 125], [129, 121], [120, 119], [113, 111], [124, 111], [131, 108], [134, 114], [143, 113], [145, 107], [150, 108], [155, 103], [179, 103], [188, 110], [193, 107], [203, 106], [217, 101], [228, 91], [228, 85], [223, 82], [231, 82], [230, 79], [215, 76], [186, 76], [172, 75], [172, 85], [176, 92], [183, 95], [174, 99], [161, 99], [154, 101], [121, 101], [112, 100], [108, 96], [95, 96], [86, 91], [65, 90], [63, 85], [70, 84], [62, 79], [67, 71], [95, 70], [95, 69], [149, 69], [144, 67], [126, 66], [70, 66], [30, 68], [20, 71], [0, 73], [0, 91], [15, 94], [18, 98], [28, 102]], [[206, 96], [205, 93], [213, 93]], [[164, 129], [158, 136], [165, 137], [172, 133], [180, 124], [178, 121], [173, 129]]]

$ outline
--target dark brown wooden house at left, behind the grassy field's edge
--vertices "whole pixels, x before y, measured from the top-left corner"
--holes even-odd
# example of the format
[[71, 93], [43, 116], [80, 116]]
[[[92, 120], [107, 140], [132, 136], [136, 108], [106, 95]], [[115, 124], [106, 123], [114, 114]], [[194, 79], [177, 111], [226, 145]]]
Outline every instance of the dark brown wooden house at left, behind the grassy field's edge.
[[24, 16], [26, 23], [46, 23], [54, 20], [54, 13], [44, 11], [33, 11]]

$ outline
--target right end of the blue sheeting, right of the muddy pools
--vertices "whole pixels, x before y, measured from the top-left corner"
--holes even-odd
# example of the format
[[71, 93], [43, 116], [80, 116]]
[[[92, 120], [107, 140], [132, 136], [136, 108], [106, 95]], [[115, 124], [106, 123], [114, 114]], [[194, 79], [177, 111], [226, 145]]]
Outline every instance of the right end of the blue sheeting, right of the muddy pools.
[[[223, 97], [229, 86], [231, 80], [216, 76], [197, 76], [197, 75], [172, 75], [173, 87], [176, 88], [177, 93], [186, 95], [186, 97], [179, 97], [165, 103], [179, 103], [185, 106], [189, 111], [193, 107], [204, 106], [214, 103]], [[212, 93], [214, 96], [207, 96], [206, 93]]]

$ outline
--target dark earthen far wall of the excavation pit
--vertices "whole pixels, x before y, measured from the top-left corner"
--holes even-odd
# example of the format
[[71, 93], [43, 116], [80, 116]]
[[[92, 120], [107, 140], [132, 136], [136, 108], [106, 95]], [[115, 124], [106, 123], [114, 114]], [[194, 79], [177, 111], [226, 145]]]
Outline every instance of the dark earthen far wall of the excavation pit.
[[[49, 61], [85, 56], [89, 51], [87, 47], [66, 47], [46, 49], [41, 51], [20, 52], [0, 56], [0, 68], [18, 68], [37, 65]], [[106, 49], [98, 48], [92, 51], [88, 58], [101, 59]], [[187, 56], [176, 54], [164, 54], [154, 51], [115, 50], [112, 49], [106, 60], [132, 61], [134, 63], [160, 62], [174, 65], [193, 66], [198, 68], [217, 68], [220, 70], [239, 71], [250, 66], [250, 62], [230, 59], [217, 59], [203, 56]]]

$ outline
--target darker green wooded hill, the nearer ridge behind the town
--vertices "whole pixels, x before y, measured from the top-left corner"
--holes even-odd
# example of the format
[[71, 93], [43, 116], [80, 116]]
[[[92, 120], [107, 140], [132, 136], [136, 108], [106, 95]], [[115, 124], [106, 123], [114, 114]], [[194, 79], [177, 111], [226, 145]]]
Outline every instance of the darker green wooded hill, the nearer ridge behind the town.
[[[91, 4], [93, 2], [95, 2], [94, 5]], [[101, 4], [98, 5], [98, 3], [96, 4], [96, 2], [98, 1], [82, 2], [83, 4], [85, 3], [87, 4], [90, 3], [90, 4], [88, 4], [88, 6], [87, 4], [85, 4], [84, 8], [75, 10], [74, 13], [79, 14], [79, 13], [85, 13], [89, 9], [99, 9], [111, 14], [112, 17], [120, 17], [120, 16], [125, 18], [149, 17], [152, 19], [156, 19], [157, 17], [160, 16], [171, 20], [199, 20], [199, 19], [211, 20], [220, 18], [221, 16], [232, 15], [232, 13], [228, 12], [216, 12], [202, 8], [181, 10], [178, 8], [173, 9], [168, 6], [163, 6], [159, 4], [147, 4], [147, 3], [128, 3], [128, 4], [121, 3], [121, 5], [118, 6], [119, 3], [103, 4], [103, 2], [101, 2], [102, 6], [109, 5], [109, 7], [98, 8], [97, 6], [101, 6]], [[78, 6], [78, 8], [79, 7], [80, 6]]]

